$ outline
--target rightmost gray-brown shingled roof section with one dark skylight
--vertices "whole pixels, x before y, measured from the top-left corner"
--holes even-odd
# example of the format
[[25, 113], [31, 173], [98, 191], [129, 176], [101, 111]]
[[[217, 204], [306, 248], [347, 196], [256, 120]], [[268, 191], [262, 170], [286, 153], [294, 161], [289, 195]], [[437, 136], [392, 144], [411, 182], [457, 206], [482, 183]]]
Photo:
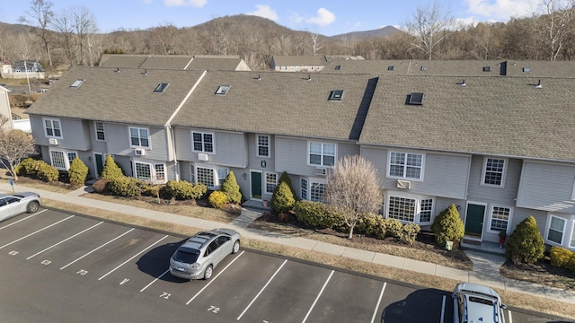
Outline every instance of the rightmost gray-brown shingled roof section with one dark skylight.
[[[575, 80], [381, 77], [361, 144], [575, 162]], [[424, 93], [423, 105], [406, 105]]]

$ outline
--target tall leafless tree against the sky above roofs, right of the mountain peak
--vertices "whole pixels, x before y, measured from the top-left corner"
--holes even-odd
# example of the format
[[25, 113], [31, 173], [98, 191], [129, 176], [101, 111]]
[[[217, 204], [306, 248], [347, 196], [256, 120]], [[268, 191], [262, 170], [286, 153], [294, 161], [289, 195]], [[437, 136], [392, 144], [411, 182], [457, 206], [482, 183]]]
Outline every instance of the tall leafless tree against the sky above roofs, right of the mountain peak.
[[414, 38], [411, 48], [419, 49], [431, 60], [433, 49], [445, 39], [453, 23], [453, 16], [449, 10], [444, 10], [438, 0], [433, 4], [417, 7], [413, 20], [405, 23], [407, 31]]

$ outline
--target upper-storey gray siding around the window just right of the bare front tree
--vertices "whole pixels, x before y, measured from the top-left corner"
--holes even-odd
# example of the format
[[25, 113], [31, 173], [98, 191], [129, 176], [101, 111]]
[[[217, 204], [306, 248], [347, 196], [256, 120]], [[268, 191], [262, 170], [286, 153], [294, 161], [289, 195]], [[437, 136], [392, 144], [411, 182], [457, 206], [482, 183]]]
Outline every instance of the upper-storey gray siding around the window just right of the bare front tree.
[[[381, 185], [396, 190], [397, 179], [387, 178], [387, 153], [385, 148], [361, 147], [362, 156], [376, 166]], [[469, 155], [416, 153], [425, 154], [423, 180], [411, 180], [411, 189], [407, 192], [454, 199], [465, 198], [471, 159]]]

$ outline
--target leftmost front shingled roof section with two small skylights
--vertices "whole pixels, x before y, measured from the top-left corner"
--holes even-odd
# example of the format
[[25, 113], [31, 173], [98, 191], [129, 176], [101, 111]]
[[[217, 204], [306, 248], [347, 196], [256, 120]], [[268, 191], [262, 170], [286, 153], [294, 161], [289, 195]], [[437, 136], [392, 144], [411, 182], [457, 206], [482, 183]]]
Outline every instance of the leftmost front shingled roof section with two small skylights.
[[[31, 115], [164, 126], [202, 71], [71, 67], [28, 109]], [[70, 85], [77, 79], [79, 88]], [[170, 83], [155, 93], [159, 83]]]

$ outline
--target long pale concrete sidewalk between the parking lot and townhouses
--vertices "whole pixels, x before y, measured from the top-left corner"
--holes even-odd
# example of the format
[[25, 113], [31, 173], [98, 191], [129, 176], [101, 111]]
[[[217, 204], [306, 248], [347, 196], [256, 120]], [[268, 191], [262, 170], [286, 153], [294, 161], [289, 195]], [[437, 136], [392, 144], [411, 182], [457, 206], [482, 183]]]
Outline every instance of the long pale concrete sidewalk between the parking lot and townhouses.
[[[201, 230], [216, 229], [222, 226], [222, 223], [210, 222], [202, 219], [195, 219], [185, 217], [177, 214], [169, 214], [164, 212], [157, 212], [148, 209], [141, 209], [130, 205], [121, 205], [91, 198], [82, 197], [84, 193], [90, 192], [91, 188], [84, 187], [67, 194], [54, 193], [47, 190], [27, 188], [14, 185], [13, 188], [7, 181], [0, 181], [0, 192], [11, 193], [13, 189], [16, 192], [31, 191], [40, 194], [42, 198], [49, 198], [52, 200], [66, 202], [76, 205], [84, 205], [103, 210], [110, 210], [122, 214], [135, 215], [151, 220], [162, 219], [164, 222], [176, 223], [187, 225], [190, 227], [198, 228]], [[367, 261], [377, 265], [393, 266], [413, 272], [437, 275], [447, 277], [462, 282], [485, 284], [501, 290], [512, 292], [521, 292], [537, 297], [543, 297], [555, 301], [564, 301], [575, 304], [575, 292], [565, 291], [558, 288], [547, 287], [539, 284], [526, 283], [505, 278], [500, 275], [500, 266], [505, 262], [505, 257], [491, 253], [483, 253], [480, 251], [465, 250], [465, 254], [473, 261], [473, 270], [466, 271], [455, 269], [447, 266], [440, 266], [413, 260], [409, 258], [401, 258], [392, 255], [377, 253], [373, 251], [366, 251], [361, 249], [352, 249], [348, 247], [341, 247], [330, 243], [325, 243], [316, 240], [309, 240], [299, 237], [291, 237], [283, 234], [272, 233], [268, 231], [260, 231], [249, 229], [247, 226], [253, 220], [261, 215], [261, 210], [253, 208], [243, 208], [242, 214], [234, 219], [233, 222], [226, 226], [234, 228], [239, 231], [244, 237], [269, 241], [273, 243], [285, 244], [300, 249], [308, 249], [319, 251], [335, 256], [358, 259]]]

